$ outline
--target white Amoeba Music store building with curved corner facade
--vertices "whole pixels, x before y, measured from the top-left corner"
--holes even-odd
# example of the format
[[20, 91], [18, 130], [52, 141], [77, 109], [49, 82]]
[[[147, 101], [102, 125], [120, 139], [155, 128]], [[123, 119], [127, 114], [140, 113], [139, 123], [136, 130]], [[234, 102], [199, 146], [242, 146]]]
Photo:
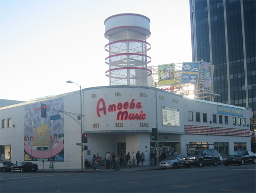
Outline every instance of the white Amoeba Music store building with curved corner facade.
[[[47, 117], [41, 117], [41, 104]], [[157, 106], [157, 113], [156, 113]], [[82, 89], [83, 132], [93, 154], [140, 151], [150, 165], [156, 150], [152, 128], [158, 128], [159, 154], [175, 149], [218, 150], [222, 156], [251, 149], [251, 110], [242, 107], [187, 99], [154, 87], [103, 86]], [[53, 159], [56, 168], [81, 167], [80, 90], [0, 108], [1, 162], [33, 161], [39, 168]], [[79, 119], [79, 118], [78, 118]], [[78, 123], [77, 123], [78, 122]], [[199, 146], [195, 145], [199, 144]]]

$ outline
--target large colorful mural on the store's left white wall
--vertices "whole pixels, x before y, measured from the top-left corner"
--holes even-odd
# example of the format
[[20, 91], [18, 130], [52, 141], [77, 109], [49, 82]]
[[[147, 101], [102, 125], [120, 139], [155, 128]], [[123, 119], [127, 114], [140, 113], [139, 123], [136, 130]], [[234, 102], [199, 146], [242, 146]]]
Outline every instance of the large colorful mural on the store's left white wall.
[[46, 118], [41, 103], [24, 107], [24, 160], [64, 161], [63, 98], [42, 103]]

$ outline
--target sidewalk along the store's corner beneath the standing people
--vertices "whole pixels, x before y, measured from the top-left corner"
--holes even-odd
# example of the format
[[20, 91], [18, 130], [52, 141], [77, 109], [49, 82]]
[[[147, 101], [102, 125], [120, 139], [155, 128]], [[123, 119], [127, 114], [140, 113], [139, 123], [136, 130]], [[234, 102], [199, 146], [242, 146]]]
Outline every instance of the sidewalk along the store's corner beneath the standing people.
[[55, 169], [55, 170], [49, 170], [49, 168], [44, 168], [44, 169], [39, 169], [37, 172], [70, 172], [70, 173], [91, 173], [91, 172], [131, 172], [131, 171], [143, 171], [143, 170], [154, 170], [154, 169], [159, 169], [156, 167], [156, 165], [140, 165], [140, 166], [134, 166], [129, 168], [129, 166], [120, 166], [119, 171], [114, 171], [114, 169], [106, 169], [106, 166], [100, 166], [100, 170], [96, 171], [93, 170], [93, 168], [88, 168], [88, 169]]

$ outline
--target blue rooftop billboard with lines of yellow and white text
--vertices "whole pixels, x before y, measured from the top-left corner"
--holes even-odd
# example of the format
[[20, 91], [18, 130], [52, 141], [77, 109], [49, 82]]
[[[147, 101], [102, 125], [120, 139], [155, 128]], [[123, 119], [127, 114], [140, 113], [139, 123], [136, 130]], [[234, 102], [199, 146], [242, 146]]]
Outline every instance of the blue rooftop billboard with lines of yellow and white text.
[[181, 83], [197, 84], [199, 79], [199, 63], [184, 62], [181, 73]]

